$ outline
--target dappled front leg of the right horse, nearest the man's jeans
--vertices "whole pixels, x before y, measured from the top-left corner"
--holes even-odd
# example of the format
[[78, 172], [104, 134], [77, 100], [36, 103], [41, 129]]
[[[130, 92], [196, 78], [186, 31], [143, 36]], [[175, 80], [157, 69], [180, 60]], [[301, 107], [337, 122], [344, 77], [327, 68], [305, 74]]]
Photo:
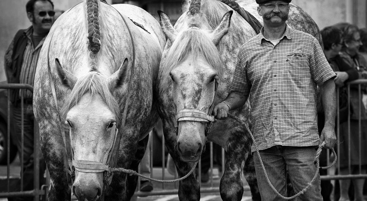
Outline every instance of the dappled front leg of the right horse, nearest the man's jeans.
[[243, 183], [241, 175], [250, 147], [251, 141], [244, 137], [241, 129], [231, 131], [227, 141], [224, 174], [219, 186], [222, 200], [242, 199]]

